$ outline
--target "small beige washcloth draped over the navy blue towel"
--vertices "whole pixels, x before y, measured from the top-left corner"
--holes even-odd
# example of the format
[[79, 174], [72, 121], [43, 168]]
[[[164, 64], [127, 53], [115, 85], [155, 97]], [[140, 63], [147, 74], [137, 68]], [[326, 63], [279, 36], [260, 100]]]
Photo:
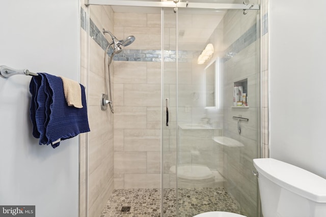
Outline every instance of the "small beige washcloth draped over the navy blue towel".
[[65, 98], [68, 106], [74, 106], [76, 108], [83, 108], [82, 104], [82, 88], [77, 81], [71, 80], [59, 76], [63, 82], [63, 91], [65, 93]]

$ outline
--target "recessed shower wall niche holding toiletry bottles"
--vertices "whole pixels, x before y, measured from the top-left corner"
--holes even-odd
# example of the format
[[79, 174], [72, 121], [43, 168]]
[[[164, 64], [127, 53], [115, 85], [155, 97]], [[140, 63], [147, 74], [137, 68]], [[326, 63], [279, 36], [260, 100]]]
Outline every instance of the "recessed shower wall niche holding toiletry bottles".
[[[236, 97], [238, 93], [238, 98]], [[246, 94], [247, 105], [243, 102], [242, 96]], [[241, 105], [237, 105], [237, 102], [242, 102]], [[249, 108], [250, 103], [248, 102], [248, 78], [235, 81], [233, 83], [233, 106], [232, 108]]]

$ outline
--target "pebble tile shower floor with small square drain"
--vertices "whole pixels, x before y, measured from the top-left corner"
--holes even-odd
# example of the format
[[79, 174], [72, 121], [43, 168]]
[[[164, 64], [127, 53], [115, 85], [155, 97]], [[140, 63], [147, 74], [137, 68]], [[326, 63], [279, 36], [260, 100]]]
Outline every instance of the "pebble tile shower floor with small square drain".
[[[192, 217], [207, 211], [241, 214], [238, 206], [223, 188], [178, 189], [179, 216]], [[160, 217], [160, 189], [116, 189], [100, 217]], [[164, 217], [176, 216], [175, 189], [164, 190]], [[123, 206], [130, 211], [121, 212]]]

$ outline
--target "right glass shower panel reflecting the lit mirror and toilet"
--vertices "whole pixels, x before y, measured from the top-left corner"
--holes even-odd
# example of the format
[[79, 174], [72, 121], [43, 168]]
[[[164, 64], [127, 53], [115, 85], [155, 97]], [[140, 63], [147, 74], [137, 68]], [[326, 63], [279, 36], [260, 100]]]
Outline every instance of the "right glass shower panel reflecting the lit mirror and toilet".
[[[187, 8], [177, 13], [177, 216], [207, 211], [258, 216], [251, 171], [260, 154], [259, 13]], [[213, 54], [198, 64], [208, 44]], [[211, 83], [205, 82], [211, 65], [215, 89], [205, 86]], [[241, 97], [246, 93], [248, 106], [233, 106], [234, 89], [242, 90]], [[205, 96], [216, 99], [214, 106], [205, 106]]]

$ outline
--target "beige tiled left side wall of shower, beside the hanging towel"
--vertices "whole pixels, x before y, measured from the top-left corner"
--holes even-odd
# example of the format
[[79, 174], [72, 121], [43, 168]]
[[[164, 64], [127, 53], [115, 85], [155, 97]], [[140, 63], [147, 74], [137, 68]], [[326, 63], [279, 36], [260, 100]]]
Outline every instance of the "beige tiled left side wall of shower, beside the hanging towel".
[[[88, 11], [83, 1], [81, 5], [85, 11]], [[88, 16], [93, 22], [100, 29], [105, 28], [113, 32], [114, 16], [112, 9], [107, 6], [90, 6], [89, 8], [90, 14]], [[104, 51], [84, 29], [81, 28], [80, 34], [82, 48], [81, 83], [86, 86], [91, 129], [91, 132], [80, 140], [79, 216], [84, 217], [87, 216], [87, 212], [88, 216], [99, 216], [114, 189], [114, 121], [110, 109], [102, 111], [100, 107], [100, 96], [104, 93], [104, 67], [102, 63]], [[88, 150], [88, 162], [86, 150]], [[88, 168], [86, 168], [87, 163]], [[86, 178], [88, 178], [88, 185]]]

